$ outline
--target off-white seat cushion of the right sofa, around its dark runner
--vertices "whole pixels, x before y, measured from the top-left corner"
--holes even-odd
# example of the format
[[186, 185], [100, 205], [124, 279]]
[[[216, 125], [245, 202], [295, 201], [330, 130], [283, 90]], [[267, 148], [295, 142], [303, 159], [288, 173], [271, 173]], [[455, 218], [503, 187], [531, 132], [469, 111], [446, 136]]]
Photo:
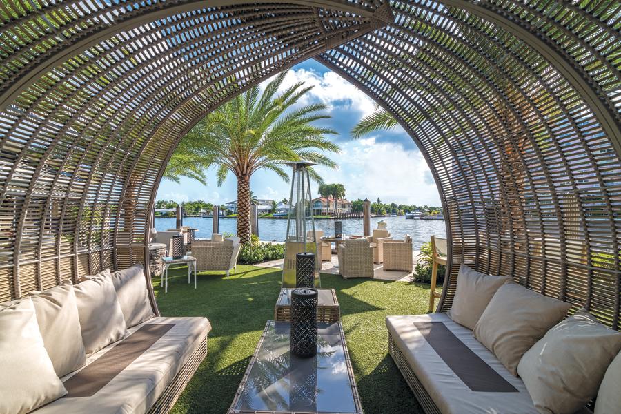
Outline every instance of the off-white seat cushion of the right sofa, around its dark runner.
[[[500, 376], [498, 382], [504, 383], [504, 385], [499, 384], [497, 389], [504, 389], [504, 391], [473, 391], [468, 384], [460, 379], [415, 325], [430, 322], [443, 324], [450, 333], [455, 335], [457, 340], [460, 340], [489, 366], [489, 369], [495, 371]], [[388, 327], [395, 345], [406, 358], [408, 366], [420, 380], [441, 413], [538, 414], [522, 380], [511, 375], [493, 353], [475, 340], [470, 329], [453, 322], [446, 313], [388, 316], [386, 327]], [[457, 359], [460, 358], [458, 355], [455, 356]], [[464, 361], [464, 363], [467, 362]], [[480, 377], [483, 382], [487, 380], [484, 376], [485, 374]], [[473, 377], [473, 382], [477, 382], [476, 375]], [[472, 383], [470, 385], [473, 386]], [[477, 384], [474, 388], [477, 388]], [[481, 389], [482, 387], [479, 386], [478, 388]]]

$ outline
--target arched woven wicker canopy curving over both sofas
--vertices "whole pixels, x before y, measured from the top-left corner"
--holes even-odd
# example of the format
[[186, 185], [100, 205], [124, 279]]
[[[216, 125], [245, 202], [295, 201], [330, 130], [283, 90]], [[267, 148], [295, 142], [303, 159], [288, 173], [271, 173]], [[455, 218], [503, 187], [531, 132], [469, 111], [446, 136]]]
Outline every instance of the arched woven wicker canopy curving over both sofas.
[[201, 117], [315, 58], [389, 110], [460, 262], [619, 328], [621, 3], [0, 4], [0, 300], [143, 261], [166, 161]]

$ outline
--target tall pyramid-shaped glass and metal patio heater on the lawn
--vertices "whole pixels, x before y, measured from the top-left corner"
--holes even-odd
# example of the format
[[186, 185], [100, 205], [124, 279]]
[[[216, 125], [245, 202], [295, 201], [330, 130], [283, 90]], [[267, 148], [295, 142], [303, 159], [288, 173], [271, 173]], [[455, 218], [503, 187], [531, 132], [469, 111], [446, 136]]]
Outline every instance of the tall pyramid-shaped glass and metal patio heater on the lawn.
[[[293, 167], [293, 176], [291, 177], [285, 256], [282, 265], [282, 287], [296, 287], [297, 253], [313, 253], [315, 258], [314, 285], [319, 287], [321, 262], [317, 254], [315, 221], [311, 208], [311, 178], [308, 176], [308, 167], [315, 164], [301, 162], [287, 165]], [[310, 255], [303, 256], [308, 258]]]

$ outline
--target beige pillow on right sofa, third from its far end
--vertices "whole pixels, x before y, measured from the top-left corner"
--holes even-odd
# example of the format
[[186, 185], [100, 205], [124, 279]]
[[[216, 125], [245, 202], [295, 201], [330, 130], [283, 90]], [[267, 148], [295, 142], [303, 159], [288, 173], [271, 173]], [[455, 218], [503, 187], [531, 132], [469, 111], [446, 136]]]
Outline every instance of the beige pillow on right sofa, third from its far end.
[[[577, 312], [556, 324], [524, 354], [517, 373], [537, 411], [571, 414], [595, 397], [620, 350], [621, 332], [604, 327], [590, 313]], [[620, 392], [618, 388], [616, 393]]]

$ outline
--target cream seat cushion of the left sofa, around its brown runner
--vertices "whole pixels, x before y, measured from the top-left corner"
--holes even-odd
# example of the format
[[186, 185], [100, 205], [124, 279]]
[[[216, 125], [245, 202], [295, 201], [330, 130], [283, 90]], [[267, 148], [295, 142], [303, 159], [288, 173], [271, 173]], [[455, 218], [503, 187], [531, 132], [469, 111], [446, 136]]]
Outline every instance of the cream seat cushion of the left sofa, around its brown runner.
[[[160, 337], [152, 338], [155, 342], [146, 351], [140, 353], [135, 360], [103, 386], [97, 384], [95, 389], [88, 389], [88, 384], [81, 385], [84, 382], [83, 379], [90, 377], [102, 382], [98, 378], [97, 370], [90, 373], [85, 370], [100, 358], [106, 358], [106, 354], [115, 349], [115, 346], [131, 340], [133, 334], [138, 333], [141, 327], [147, 327], [147, 325], [172, 325], [172, 327], [169, 327]], [[67, 386], [68, 395], [35, 412], [37, 414], [146, 413], [179, 373], [181, 367], [206, 340], [210, 330], [211, 325], [206, 318], [152, 318], [144, 324], [132, 327], [129, 329], [130, 335], [124, 340], [90, 355], [85, 367], [61, 378]], [[115, 360], [121, 359], [115, 358]], [[101, 359], [99, 365], [103, 365], [105, 371], [105, 360]], [[71, 378], [75, 375], [83, 375], [83, 377], [75, 377], [71, 382]], [[93, 393], [93, 391], [96, 392]]]

